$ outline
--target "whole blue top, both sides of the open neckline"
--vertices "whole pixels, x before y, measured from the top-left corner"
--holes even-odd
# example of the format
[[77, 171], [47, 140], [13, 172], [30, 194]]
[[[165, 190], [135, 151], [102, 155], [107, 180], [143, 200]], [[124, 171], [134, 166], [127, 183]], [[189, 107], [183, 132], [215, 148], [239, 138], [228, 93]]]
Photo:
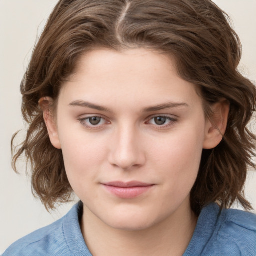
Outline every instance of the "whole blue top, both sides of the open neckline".
[[[13, 243], [3, 256], [91, 256], [79, 226], [82, 204], [56, 222]], [[212, 203], [202, 209], [183, 256], [256, 256], [256, 215], [223, 209]], [[161, 256], [161, 255], [160, 255]]]

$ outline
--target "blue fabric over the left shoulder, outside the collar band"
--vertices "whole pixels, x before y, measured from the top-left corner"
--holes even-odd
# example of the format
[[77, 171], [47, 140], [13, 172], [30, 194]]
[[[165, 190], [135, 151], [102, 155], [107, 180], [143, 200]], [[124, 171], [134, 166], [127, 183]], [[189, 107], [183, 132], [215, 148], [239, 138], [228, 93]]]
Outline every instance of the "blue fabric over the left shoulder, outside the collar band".
[[14, 242], [3, 256], [70, 255], [72, 254], [65, 234], [67, 221], [77, 215], [77, 205], [61, 219], [40, 228]]

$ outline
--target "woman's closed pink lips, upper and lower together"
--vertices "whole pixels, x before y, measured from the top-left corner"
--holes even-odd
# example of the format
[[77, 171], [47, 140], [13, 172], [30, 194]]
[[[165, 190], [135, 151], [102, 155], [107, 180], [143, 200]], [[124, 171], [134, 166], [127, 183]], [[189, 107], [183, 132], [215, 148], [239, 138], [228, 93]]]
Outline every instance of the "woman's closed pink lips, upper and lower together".
[[144, 183], [140, 181], [112, 181], [101, 183], [104, 188], [115, 196], [123, 199], [136, 198], [150, 190], [155, 184]]

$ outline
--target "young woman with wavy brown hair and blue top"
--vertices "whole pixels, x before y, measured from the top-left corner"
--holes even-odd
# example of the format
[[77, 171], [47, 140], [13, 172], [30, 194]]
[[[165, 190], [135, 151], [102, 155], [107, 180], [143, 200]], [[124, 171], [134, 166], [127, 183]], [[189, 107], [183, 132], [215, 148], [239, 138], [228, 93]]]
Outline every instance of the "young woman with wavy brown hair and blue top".
[[61, 0], [21, 84], [46, 208], [80, 203], [4, 255], [253, 255], [242, 189], [255, 87], [209, 0]]

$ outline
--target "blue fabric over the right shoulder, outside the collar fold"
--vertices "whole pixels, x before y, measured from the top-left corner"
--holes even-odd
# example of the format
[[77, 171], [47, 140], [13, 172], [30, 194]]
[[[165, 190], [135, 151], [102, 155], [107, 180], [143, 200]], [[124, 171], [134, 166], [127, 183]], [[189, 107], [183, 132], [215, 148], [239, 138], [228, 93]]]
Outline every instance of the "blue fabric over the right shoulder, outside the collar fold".
[[209, 245], [223, 255], [256, 255], [256, 215], [236, 209], [218, 212]]

